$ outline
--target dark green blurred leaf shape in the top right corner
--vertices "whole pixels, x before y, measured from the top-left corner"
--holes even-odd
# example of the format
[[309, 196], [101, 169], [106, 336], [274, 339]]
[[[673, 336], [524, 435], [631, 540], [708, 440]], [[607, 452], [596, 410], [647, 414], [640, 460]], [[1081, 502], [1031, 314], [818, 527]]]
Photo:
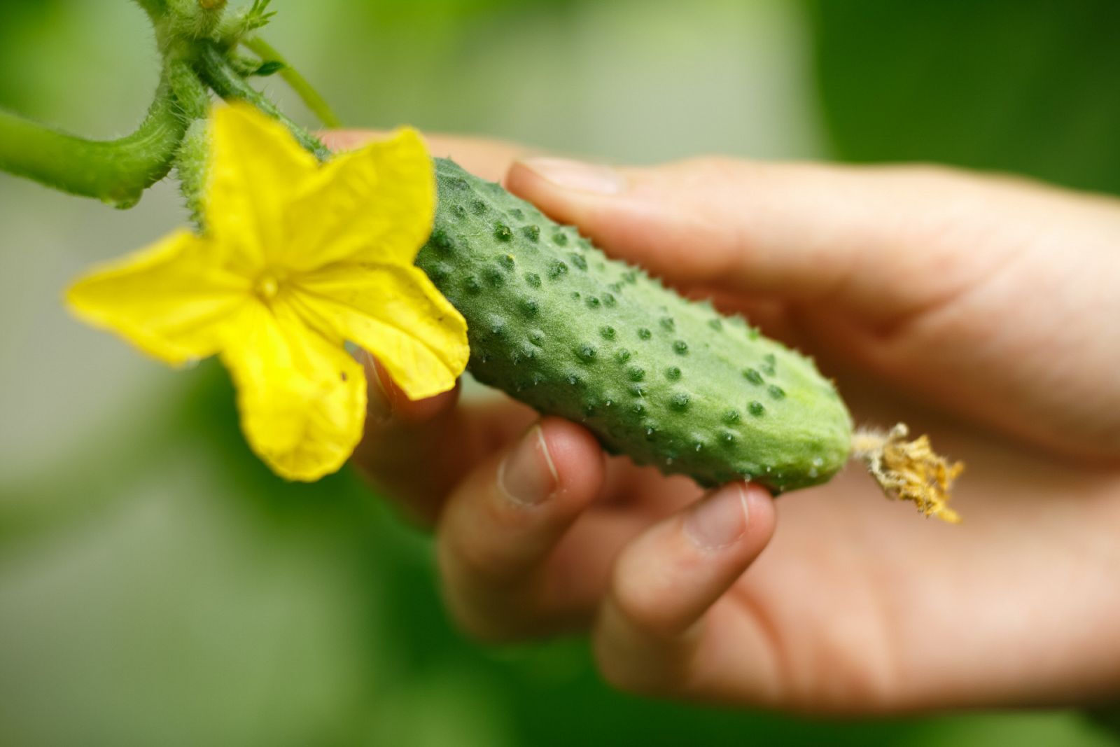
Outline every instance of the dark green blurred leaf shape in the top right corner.
[[1120, 194], [1120, 3], [811, 0], [834, 153]]

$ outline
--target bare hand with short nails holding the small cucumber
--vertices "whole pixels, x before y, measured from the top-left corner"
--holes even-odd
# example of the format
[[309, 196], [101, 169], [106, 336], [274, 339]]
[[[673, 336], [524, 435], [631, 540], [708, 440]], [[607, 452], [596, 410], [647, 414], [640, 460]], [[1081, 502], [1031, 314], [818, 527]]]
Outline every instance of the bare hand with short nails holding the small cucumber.
[[[431, 148], [812, 353], [857, 422], [968, 463], [960, 526], [856, 467], [777, 502], [702, 495], [510, 400], [409, 402], [368, 361], [355, 461], [435, 530], [464, 629], [586, 631], [622, 689], [813, 713], [1120, 692], [1120, 200], [925, 166]], [[511, 474], [544, 497], [511, 499]]]

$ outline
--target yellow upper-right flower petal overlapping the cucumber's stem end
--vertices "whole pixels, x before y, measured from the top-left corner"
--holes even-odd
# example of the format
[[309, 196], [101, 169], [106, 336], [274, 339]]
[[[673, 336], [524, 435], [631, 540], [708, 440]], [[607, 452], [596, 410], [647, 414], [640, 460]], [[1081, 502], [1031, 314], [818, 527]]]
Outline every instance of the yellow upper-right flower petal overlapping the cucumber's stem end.
[[431, 157], [416, 130], [401, 129], [323, 167], [286, 212], [286, 261], [302, 270], [337, 261], [412, 264], [435, 212]]

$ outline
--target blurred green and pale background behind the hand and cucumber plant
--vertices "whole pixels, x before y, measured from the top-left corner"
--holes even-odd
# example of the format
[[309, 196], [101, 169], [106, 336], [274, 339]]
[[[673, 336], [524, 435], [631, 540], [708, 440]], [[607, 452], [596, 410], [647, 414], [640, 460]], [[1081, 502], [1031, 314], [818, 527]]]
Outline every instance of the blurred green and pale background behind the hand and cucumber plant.
[[[273, 6], [268, 38], [352, 125], [1120, 193], [1110, 0]], [[122, 134], [155, 62], [125, 0], [0, 1], [0, 106]], [[837, 723], [652, 703], [600, 684], [582, 641], [465, 641], [428, 539], [356, 477], [283, 484], [218, 366], [171, 373], [64, 312], [68, 279], [184, 218], [168, 184], [118, 212], [0, 175], [0, 745], [1120, 744], [1076, 711]]]

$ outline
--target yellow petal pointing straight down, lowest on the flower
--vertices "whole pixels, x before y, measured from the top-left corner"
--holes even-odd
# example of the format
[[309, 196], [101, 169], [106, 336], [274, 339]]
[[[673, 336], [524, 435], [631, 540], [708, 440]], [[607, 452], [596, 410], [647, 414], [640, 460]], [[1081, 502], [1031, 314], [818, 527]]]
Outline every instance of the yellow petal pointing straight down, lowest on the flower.
[[354, 451], [365, 421], [365, 376], [342, 339], [324, 338], [283, 304], [253, 304], [222, 361], [237, 385], [245, 438], [278, 475], [315, 480]]

